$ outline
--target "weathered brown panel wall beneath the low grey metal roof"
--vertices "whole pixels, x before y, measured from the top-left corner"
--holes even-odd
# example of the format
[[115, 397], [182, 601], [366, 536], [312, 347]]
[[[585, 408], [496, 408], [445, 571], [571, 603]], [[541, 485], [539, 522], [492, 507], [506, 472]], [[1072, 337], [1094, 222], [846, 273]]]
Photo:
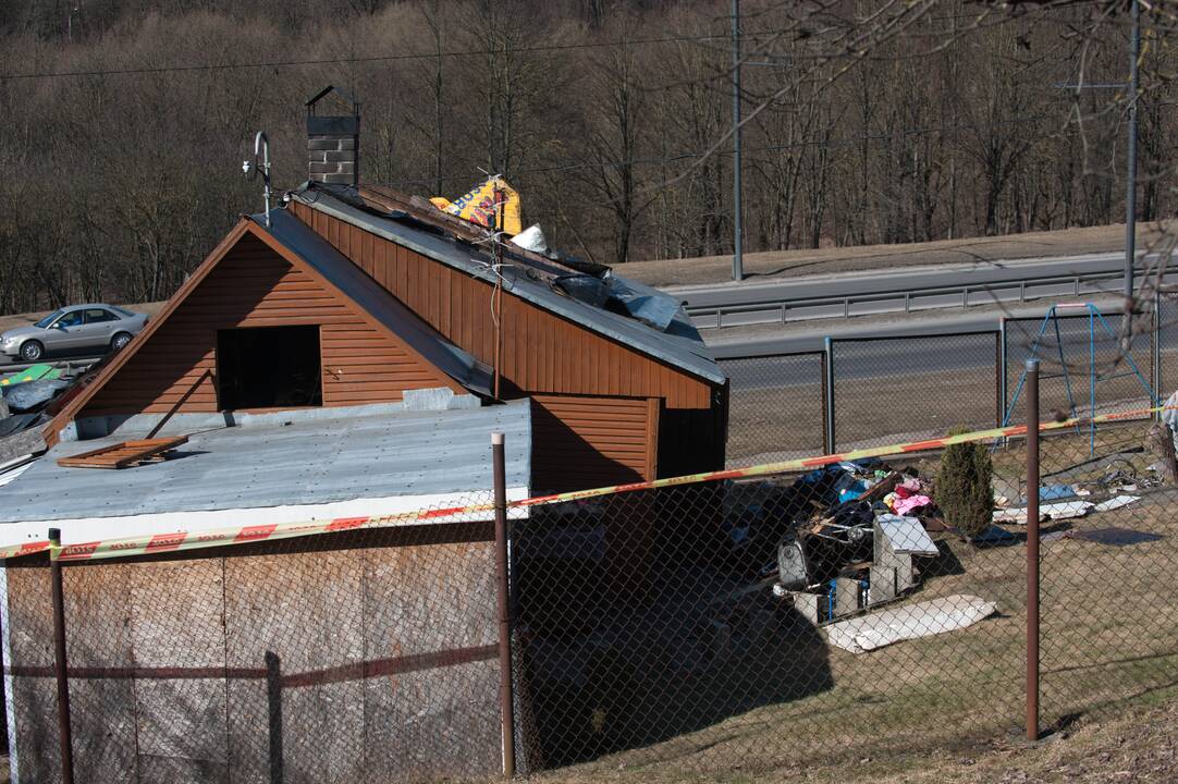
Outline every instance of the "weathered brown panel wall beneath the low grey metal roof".
[[[68, 569], [75, 780], [269, 783], [276, 755], [286, 782], [497, 769], [489, 536], [415, 526]], [[48, 580], [44, 560], [9, 562], [21, 782], [60, 780]]]

